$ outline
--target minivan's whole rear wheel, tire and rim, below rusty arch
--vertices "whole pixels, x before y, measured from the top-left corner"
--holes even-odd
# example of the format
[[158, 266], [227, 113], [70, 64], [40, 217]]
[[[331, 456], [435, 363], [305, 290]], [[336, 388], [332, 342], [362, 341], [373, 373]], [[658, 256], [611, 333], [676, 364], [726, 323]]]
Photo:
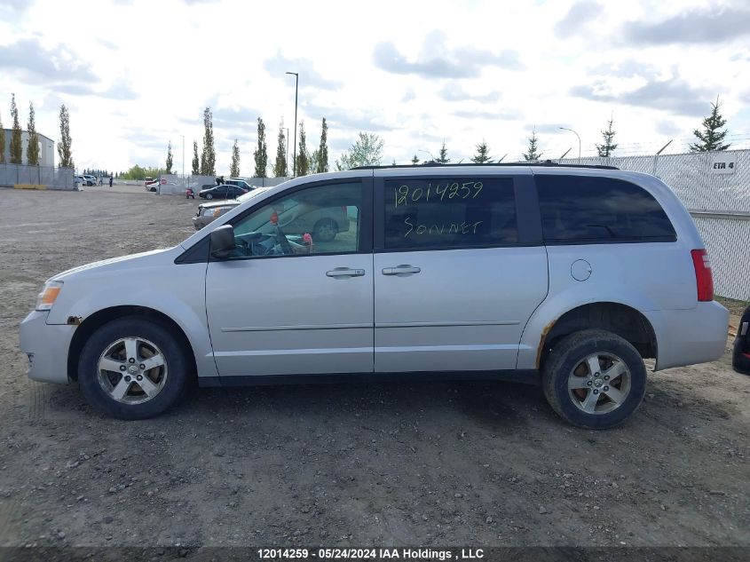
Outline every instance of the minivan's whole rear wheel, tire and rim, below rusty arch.
[[573, 425], [606, 429], [625, 421], [643, 400], [646, 369], [627, 340], [589, 329], [565, 336], [542, 368], [549, 405]]

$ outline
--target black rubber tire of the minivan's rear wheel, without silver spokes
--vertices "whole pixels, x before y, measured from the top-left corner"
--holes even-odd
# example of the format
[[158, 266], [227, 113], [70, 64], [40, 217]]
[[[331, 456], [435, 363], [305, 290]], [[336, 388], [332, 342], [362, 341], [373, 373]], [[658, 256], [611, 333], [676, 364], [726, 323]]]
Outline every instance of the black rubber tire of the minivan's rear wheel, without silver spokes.
[[[605, 357], [611, 355], [619, 359], [628, 369], [629, 389], [624, 400], [618, 406], [613, 407], [615, 402], [604, 394], [604, 389], [609, 389], [609, 386], [601, 386], [601, 390], [596, 391], [600, 393], [597, 394], [598, 398], [594, 397], [594, 409], [596, 410], [601, 405], [602, 412], [588, 413], [577, 405], [585, 401], [584, 398], [588, 397], [588, 392], [595, 392], [594, 388], [601, 384], [613, 384], [613, 386], [620, 384], [620, 388], [624, 384], [622, 378], [619, 383], [614, 378], [612, 379], [614, 383], [607, 383], [603, 381], [602, 376], [594, 376], [593, 386], [586, 383], [591, 386], [590, 389], [580, 388], [569, 391], [568, 378], [572, 376], [573, 369], [580, 372], [580, 368], [583, 367], [585, 371], [588, 371], [588, 364], [585, 360], [594, 354], [597, 358], [602, 358], [597, 361], [604, 360], [605, 367], [601, 369], [602, 374], [607, 365]], [[588, 379], [582, 378], [581, 380]], [[588, 429], [608, 429], [624, 422], [640, 406], [646, 392], [646, 368], [641, 355], [627, 340], [605, 330], [588, 329], [565, 336], [555, 345], [545, 360], [541, 382], [549, 405], [565, 421]], [[599, 401], [596, 402], [596, 400]], [[613, 409], [606, 411], [606, 408]]]

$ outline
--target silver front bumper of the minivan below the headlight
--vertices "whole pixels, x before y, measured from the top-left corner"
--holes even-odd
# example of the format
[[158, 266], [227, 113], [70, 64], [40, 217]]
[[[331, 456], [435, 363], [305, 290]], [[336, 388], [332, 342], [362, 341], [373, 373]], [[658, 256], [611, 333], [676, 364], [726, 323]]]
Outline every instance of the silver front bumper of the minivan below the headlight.
[[67, 384], [67, 352], [76, 327], [47, 324], [48, 314], [34, 311], [20, 323], [20, 350], [29, 356], [27, 376], [43, 383]]

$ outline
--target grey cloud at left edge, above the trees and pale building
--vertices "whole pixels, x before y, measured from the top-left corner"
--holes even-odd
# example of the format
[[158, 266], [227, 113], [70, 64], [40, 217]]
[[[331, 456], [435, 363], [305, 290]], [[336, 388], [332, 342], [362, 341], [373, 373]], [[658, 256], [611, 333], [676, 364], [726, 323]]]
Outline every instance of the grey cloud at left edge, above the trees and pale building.
[[46, 48], [36, 38], [20, 39], [0, 46], [0, 68], [28, 75], [36, 83], [43, 80], [96, 83], [91, 67], [69, 51], [65, 45]]

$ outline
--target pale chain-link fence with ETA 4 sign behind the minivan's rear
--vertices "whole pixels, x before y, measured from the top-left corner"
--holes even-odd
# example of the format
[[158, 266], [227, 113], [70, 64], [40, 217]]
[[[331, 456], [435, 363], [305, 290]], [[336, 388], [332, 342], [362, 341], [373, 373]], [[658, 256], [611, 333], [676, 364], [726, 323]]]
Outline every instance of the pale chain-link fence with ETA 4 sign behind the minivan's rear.
[[[558, 162], [578, 162], [576, 159]], [[716, 294], [750, 300], [750, 150], [581, 158], [653, 174], [690, 211], [714, 269]]]

